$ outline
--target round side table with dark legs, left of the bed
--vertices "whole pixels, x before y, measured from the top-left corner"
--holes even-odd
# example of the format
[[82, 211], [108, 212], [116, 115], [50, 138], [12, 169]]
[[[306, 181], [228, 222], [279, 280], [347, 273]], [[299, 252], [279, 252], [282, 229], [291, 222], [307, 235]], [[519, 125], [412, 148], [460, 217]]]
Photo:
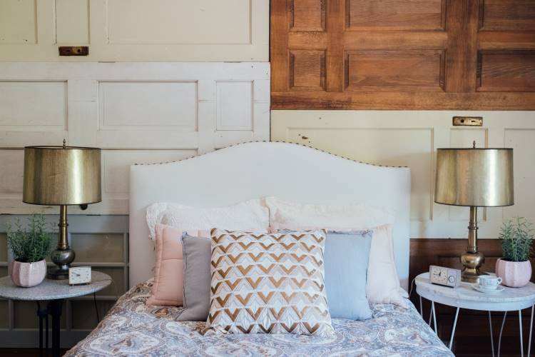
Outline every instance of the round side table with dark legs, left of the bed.
[[[52, 317], [52, 354], [59, 356], [59, 319], [61, 306], [66, 298], [88, 295], [101, 291], [110, 285], [111, 277], [100, 271], [91, 271], [91, 283], [84, 285], [68, 285], [66, 280], [45, 279], [38, 286], [21, 288], [11, 281], [10, 276], [0, 278], [0, 297], [11, 300], [25, 300], [37, 302], [37, 316], [39, 316], [39, 348], [43, 348], [43, 320], [46, 319], [46, 348], [49, 346], [49, 318]], [[46, 308], [41, 308], [40, 301], [49, 300]]]

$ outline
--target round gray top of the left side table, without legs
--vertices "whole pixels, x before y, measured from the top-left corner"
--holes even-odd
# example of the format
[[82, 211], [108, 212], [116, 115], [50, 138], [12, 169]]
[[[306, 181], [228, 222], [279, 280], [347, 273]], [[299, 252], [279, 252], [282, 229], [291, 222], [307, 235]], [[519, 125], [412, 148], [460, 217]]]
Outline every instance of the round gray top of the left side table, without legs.
[[11, 281], [10, 276], [0, 278], [0, 298], [13, 300], [57, 300], [73, 298], [101, 291], [110, 285], [111, 277], [100, 271], [91, 271], [91, 283], [83, 285], [68, 285], [68, 279], [44, 279], [42, 283], [31, 288], [21, 288]]

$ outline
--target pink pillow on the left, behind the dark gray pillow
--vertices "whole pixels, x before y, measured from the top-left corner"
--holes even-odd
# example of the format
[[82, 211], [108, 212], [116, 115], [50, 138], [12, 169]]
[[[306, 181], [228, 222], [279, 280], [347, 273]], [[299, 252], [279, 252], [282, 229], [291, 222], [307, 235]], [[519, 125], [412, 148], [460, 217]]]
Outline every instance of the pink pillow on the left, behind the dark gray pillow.
[[[182, 306], [183, 261], [180, 228], [156, 224], [156, 264], [152, 295], [147, 305]], [[209, 237], [209, 231], [188, 231], [193, 236]]]

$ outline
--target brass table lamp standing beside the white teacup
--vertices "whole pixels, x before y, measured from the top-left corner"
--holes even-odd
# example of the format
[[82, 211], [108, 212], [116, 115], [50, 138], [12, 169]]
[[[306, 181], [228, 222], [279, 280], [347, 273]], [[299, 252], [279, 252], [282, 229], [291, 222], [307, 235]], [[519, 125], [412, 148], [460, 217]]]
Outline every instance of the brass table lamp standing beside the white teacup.
[[461, 256], [462, 280], [476, 282], [485, 261], [477, 250], [477, 207], [514, 204], [513, 149], [438, 149], [436, 203], [469, 206], [468, 248]]

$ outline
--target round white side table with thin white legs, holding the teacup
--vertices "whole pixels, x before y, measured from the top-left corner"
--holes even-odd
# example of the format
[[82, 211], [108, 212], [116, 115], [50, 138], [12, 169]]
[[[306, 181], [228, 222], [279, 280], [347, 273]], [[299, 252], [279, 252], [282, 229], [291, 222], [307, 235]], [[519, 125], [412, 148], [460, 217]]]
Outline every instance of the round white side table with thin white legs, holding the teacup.
[[[494, 275], [494, 274], [491, 274]], [[489, 327], [491, 333], [492, 356], [494, 357], [494, 337], [492, 336], [491, 311], [504, 312], [504, 320], [501, 323], [500, 336], [498, 342], [498, 356], [501, 347], [501, 333], [504, 331], [505, 318], [508, 311], [518, 311], [520, 326], [520, 349], [521, 356], [524, 356], [524, 338], [522, 337], [522, 309], [531, 307], [531, 321], [529, 323], [529, 344], [528, 356], [531, 353], [531, 332], [533, 328], [533, 316], [535, 305], [535, 284], [528, 283], [523, 288], [508, 288], [504, 286], [501, 293], [486, 294], [474, 290], [472, 283], [462, 282], [457, 288], [435, 285], [429, 281], [429, 273], [422, 273], [415, 278], [416, 291], [420, 299], [420, 314], [423, 317], [422, 298], [431, 301], [431, 312], [429, 313], [429, 325], [434, 321], [434, 332], [437, 333], [437, 317], [434, 311], [434, 303], [456, 307], [455, 318], [452, 327], [452, 336], [449, 338], [449, 349], [452, 349], [455, 328], [457, 327], [457, 317], [459, 309], [479, 310], [489, 312]]]

